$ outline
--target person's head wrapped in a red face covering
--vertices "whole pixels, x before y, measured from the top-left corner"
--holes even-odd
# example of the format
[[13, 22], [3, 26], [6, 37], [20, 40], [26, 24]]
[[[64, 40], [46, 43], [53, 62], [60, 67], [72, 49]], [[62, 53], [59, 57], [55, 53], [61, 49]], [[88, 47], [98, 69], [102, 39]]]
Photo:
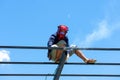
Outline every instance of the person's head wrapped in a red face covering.
[[59, 40], [64, 39], [67, 31], [68, 31], [67, 26], [65, 26], [65, 25], [59, 25], [58, 26], [57, 35], [58, 35]]

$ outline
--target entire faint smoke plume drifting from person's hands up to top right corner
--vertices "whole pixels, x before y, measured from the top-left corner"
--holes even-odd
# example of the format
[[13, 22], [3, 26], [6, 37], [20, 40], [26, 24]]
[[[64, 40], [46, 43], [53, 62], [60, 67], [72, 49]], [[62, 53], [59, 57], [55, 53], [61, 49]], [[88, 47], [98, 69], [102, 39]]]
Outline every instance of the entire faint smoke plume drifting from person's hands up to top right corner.
[[88, 33], [82, 42], [78, 37], [78, 39], [74, 40], [74, 43], [79, 44], [81, 42], [80, 47], [89, 47], [97, 41], [111, 37], [113, 34], [118, 34], [116, 31], [120, 30], [119, 8], [120, 5], [116, 1], [111, 0], [103, 9], [104, 18], [100, 22], [95, 23], [97, 26], [93, 25], [95, 29]]

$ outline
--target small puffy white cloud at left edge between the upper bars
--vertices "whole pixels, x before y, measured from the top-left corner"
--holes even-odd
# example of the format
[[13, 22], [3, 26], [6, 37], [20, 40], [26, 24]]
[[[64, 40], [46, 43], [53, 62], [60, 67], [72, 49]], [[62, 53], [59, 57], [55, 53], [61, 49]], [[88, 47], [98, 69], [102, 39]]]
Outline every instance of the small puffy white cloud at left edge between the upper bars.
[[2, 61], [10, 61], [9, 51], [0, 50], [0, 62]]

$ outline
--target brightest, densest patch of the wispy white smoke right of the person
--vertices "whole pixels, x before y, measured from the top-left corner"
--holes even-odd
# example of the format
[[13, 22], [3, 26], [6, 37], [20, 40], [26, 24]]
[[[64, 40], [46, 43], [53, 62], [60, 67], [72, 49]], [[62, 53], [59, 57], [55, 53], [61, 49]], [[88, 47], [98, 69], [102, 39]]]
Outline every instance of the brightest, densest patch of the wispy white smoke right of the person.
[[98, 23], [96, 30], [86, 36], [82, 46], [89, 46], [93, 42], [107, 38], [111, 34], [111, 29], [108, 27], [107, 21], [103, 20]]

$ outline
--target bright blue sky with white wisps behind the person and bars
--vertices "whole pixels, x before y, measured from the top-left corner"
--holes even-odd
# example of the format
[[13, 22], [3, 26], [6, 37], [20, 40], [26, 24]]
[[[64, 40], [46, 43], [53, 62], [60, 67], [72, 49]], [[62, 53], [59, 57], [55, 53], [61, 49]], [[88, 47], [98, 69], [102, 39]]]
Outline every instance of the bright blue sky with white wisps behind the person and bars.
[[[0, 0], [0, 45], [46, 46], [59, 24], [69, 27], [70, 44], [120, 47], [119, 0]], [[120, 62], [119, 51], [83, 51], [97, 62]], [[47, 50], [0, 49], [0, 61], [48, 62]], [[68, 62], [83, 62], [76, 55]], [[54, 73], [55, 65], [0, 65], [0, 73]], [[66, 65], [67, 74], [120, 74], [119, 66]], [[1, 77], [0, 80], [45, 80]], [[52, 80], [53, 77], [47, 77]], [[119, 80], [114, 77], [61, 77], [60, 80]]]

